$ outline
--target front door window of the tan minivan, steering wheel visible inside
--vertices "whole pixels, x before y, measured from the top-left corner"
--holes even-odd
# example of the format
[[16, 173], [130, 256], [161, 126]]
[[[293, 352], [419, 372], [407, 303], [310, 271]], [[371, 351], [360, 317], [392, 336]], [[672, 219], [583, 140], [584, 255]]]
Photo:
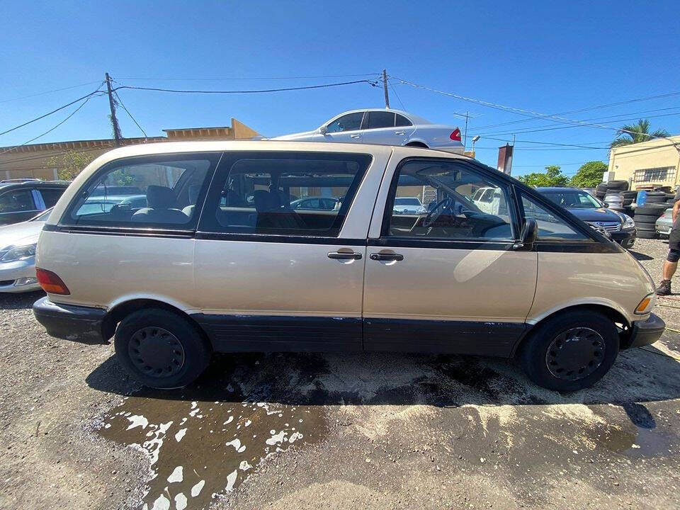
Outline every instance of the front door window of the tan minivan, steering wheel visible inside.
[[[399, 197], [414, 197], [422, 205], [400, 205]], [[409, 161], [392, 181], [382, 235], [510, 241], [514, 232], [508, 204], [508, 186], [459, 162]]]

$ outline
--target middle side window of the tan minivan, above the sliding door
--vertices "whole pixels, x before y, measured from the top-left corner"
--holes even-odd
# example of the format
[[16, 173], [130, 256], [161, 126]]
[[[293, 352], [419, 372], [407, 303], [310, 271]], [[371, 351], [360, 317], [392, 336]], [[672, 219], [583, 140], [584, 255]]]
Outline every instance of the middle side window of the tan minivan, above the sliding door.
[[370, 162], [368, 154], [234, 154], [218, 171], [200, 229], [336, 237]]

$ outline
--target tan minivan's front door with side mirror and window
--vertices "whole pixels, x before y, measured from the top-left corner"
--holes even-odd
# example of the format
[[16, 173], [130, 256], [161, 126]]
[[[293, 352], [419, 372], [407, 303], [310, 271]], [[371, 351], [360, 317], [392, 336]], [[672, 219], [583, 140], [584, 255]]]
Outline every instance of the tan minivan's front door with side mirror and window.
[[[480, 188], [499, 192], [496, 213], [472, 201]], [[427, 212], [404, 215], [393, 209], [395, 196], [436, 198]], [[513, 200], [502, 179], [459, 159], [407, 159], [387, 169], [368, 239], [367, 350], [511, 354], [538, 261], [516, 247]]]

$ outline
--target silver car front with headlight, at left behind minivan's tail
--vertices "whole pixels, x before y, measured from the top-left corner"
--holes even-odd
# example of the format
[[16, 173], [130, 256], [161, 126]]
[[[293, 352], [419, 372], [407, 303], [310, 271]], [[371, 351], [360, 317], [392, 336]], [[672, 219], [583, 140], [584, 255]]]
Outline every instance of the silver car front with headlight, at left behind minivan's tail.
[[35, 277], [35, 244], [49, 208], [27, 222], [0, 227], [0, 293], [40, 290]]

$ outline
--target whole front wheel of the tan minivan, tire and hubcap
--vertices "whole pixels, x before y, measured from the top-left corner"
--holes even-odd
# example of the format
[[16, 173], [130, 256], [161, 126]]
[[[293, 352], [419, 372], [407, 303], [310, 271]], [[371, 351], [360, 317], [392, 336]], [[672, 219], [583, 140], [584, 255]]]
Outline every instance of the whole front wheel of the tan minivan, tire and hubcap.
[[[560, 336], [574, 329], [582, 331], [577, 340], [562, 340], [562, 346], [558, 346]], [[616, 361], [618, 347], [616, 326], [608, 317], [597, 312], [563, 312], [531, 331], [521, 346], [519, 361], [537, 385], [572, 392], [599, 381]], [[581, 363], [584, 365], [578, 368]], [[557, 377], [555, 373], [560, 370]]]

